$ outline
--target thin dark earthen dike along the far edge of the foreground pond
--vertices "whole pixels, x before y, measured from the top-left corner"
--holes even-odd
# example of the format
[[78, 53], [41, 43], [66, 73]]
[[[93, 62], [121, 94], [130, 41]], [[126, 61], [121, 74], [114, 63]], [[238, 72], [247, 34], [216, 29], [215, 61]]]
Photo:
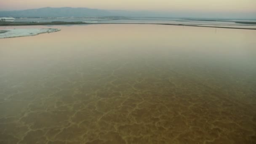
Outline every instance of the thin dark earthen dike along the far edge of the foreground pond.
[[[213, 28], [225, 28], [225, 29], [251, 29], [256, 28], [240, 28], [240, 27], [217, 27], [217, 26], [200, 26], [193, 24], [164, 24], [164, 23], [86, 23], [86, 22], [65, 22], [65, 21], [53, 21], [53, 22], [0, 22], [1, 26], [40, 26], [40, 25], [83, 25], [83, 24], [158, 24], [158, 25], [174, 25], [174, 26], [189, 26], [189, 27], [213, 27]], [[252, 25], [250, 25], [252, 26]], [[254, 25], [253, 25], [254, 26]], [[255, 25], [256, 26], [256, 25]]]

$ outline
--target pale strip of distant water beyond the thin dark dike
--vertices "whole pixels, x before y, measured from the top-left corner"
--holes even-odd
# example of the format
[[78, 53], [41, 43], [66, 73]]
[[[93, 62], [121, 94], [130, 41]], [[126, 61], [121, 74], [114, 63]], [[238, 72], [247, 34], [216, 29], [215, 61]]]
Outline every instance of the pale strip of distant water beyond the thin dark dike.
[[[66, 22], [78, 22], [83, 21], [91, 24], [186, 24], [197, 25], [207, 27], [230, 27], [230, 28], [244, 28], [244, 29], [256, 29], [256, 24], [239, 24], [236, 21], [243, 20], [193, 20], [193, 19], [180, 19], [180, 18], [147, 18], [147, 17], [135, 17], [135, 18], [120, 18], [120, 17], [49, 17], [49, 18], [16, 18], [15, 22], [52, 22], [52, 21], [66, 21]], [[12, 20], [13, 21], [13, 20]], [[244, 20], [250, 22], [256, 22], [253, 20]]]

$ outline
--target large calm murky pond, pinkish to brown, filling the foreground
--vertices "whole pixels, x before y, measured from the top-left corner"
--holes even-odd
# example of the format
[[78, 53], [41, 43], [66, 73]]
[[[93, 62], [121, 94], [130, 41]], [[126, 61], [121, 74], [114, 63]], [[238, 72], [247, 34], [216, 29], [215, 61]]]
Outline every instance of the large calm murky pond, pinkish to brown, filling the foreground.
[[256, 31], [55, 27], [0, 40], [0, 144], [255, 144]]

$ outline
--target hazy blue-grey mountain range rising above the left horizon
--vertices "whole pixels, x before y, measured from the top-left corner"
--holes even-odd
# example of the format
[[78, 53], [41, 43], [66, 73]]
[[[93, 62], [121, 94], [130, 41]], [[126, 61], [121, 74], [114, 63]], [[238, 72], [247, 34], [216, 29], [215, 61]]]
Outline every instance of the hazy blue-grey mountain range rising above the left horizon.
[[115, 11], [92, 8], [38, 8], [20, 11], [0, 11], [0, 17], [103, 17], [103, 16], [159, 16], [147, 11]]

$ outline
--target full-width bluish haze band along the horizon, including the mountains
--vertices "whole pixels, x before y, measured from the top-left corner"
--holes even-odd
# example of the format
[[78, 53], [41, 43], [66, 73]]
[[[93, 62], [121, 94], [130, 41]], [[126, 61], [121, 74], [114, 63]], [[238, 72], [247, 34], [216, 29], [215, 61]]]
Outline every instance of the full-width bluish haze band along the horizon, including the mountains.
[[238, 18], [256, 19], [254, 13], [200, 13], [189, 11], [122, 11], [101, 10], [93, 8], [38, 8], [18, 11], [0, 11], [0, 17], [104, 17], [104, 16], [126, 16], [126, 17], [172, 17], [172, 18]]

